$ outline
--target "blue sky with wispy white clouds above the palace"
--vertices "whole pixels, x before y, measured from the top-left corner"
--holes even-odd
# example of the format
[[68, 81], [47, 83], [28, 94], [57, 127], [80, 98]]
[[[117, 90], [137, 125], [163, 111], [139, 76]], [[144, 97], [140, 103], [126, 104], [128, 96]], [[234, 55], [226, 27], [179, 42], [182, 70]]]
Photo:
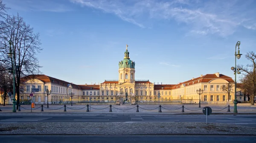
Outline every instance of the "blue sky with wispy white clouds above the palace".
[[[40, 70], [74, 84], [118, 79], [128, 44], [135, 79], [234, 78], [237, 41], [256, 49], [255, 0], [3, 0], [40, 33]], [[256, 51], [255, 51], [256, 52]], [[248, 64], [241, 56], [238, 64]]]

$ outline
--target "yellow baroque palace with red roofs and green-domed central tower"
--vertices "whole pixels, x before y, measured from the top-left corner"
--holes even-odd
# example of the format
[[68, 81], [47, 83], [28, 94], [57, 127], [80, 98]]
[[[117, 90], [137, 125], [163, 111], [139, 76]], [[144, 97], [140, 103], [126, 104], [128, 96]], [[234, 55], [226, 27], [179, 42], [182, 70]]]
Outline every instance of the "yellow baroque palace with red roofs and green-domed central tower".
[[[118, 79], [105, 80], [99, 84], [77, 85], [72, 82], [55, 79], [46, 75], [30, 75], [23, 78], [20, 86], [20, 99], [32, 99], [35, 104], [47, 104], [47, 92], [49, 104], [59, 104], [70, 102], [70, 94], [74, 93], [73, 103], [87, 102], [116, 102], [122, 103], [132, 99], [138, 103], [158, 102], [160, 93], [161, 102], [182, 102], [202, 104], [226, 103], [228, 93], [224, 88], [228, 83], [234, 83], [231, 77], [219, 73], [200, 75], [179, 84], [154, 84], [149, 80], [136, 80], [135, 62], [130, 59], [128, 45], [126, 45], [124, 59], [119, 62]], [[172, 82], [172, 81], [170, 81]], [[233, 87], [232, 87], [233, 88]], [[32, 92], [38, 89], [38, 92]], [[196, 90], [202, 89], [201, 97]], [[230, 93], [230, 101], [234, 99], [234, 93]], [[33, 94], [30, 97], [30, 93]], [[118, 97], [118, 98], [117, 98]]]

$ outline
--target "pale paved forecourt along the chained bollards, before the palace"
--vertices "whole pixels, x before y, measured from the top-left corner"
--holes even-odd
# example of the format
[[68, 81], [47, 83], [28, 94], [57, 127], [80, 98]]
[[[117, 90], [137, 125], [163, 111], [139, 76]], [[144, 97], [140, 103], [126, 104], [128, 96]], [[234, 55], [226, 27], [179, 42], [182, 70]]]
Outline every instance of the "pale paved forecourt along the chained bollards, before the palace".
[[[87, 110], [87, 104], [75, 104], [73, 106], [67, 104], [66, 110], [67, 112], [86, 112]], [[110, 110], [110, 105], [96, 105], [91, 104], [89, 107], [90, 112], [99, 112], [99, 113], [107, 113]], [[136, 113], [137, 105], [112, 105], [112, 112], [113, 113]], [[191, 104], [183, 104], [184, 106], [184, 112], [182, 112], [182, 104], [164, 104], [161, 107], [162, 112], [169, 113], [169, 114], [177, 114], [177, 113], [202, 113], [203, 107], [211, 107], [212, 108], [212, 114], [228, 114], [233, 113], [233, 104], [230, 105], [230, 112], [227, 112], [227, 106], [228, 104], [221, 104], [221, 105], [215, 105], [215, 104], [202, 104], [201, 108], [198, 107], [198, 105], [191, 105]], [[49, 105], [49, 108], [46, 108], [47, 105], [44, 105], [44, 112], [64, 112], [64, 105]], [[12, 105], [7, 105], [5, 107], [0, 106], [0, 109], [2, 112], [12, 112]], [[31, 112], [31, 106], [30, 105], [21, 105], [20, 112]], [[156, 113], [158, 112], [158, 105], [146, 105], [146, 104], [140, 104], [139, 105], [139, 112], [145, 112], [145, 113]], [[17, 110], [17, 112], [19, 112]], [[32, 112], [41, 112], [41, 105], [36, 105], [35, 108], [32, 108]], [[250, 104], [238, 104], [238, 113], [244, 113], [244, 114], [256, 114], [256, 105], [250, 105]]]

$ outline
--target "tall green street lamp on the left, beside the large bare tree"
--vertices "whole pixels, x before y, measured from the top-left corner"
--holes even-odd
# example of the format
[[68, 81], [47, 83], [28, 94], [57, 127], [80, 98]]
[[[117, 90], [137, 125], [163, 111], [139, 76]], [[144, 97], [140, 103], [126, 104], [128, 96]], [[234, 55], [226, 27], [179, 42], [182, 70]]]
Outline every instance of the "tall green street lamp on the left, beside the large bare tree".
[[[12, 49], [12, 40], [9, 41], [10, 51], [8, 53], [9, 58], [12, 60], [12, 69], [13, 69], [13, 99], [12, 99], [12, 112], [16, 112], [16, 99], [15, 99], [15, 52], [14, 48]], [[12, 58], [13, 57], [13, 58]]]

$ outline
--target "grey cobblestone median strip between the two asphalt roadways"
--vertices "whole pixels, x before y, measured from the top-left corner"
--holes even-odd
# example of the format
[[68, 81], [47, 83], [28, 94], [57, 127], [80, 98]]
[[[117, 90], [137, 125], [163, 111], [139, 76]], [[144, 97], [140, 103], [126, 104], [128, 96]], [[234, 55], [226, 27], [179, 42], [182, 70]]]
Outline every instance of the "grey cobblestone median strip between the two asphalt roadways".
[[256, 135], [256, 128], [224, 123], [6, 123], [0, 135]]

